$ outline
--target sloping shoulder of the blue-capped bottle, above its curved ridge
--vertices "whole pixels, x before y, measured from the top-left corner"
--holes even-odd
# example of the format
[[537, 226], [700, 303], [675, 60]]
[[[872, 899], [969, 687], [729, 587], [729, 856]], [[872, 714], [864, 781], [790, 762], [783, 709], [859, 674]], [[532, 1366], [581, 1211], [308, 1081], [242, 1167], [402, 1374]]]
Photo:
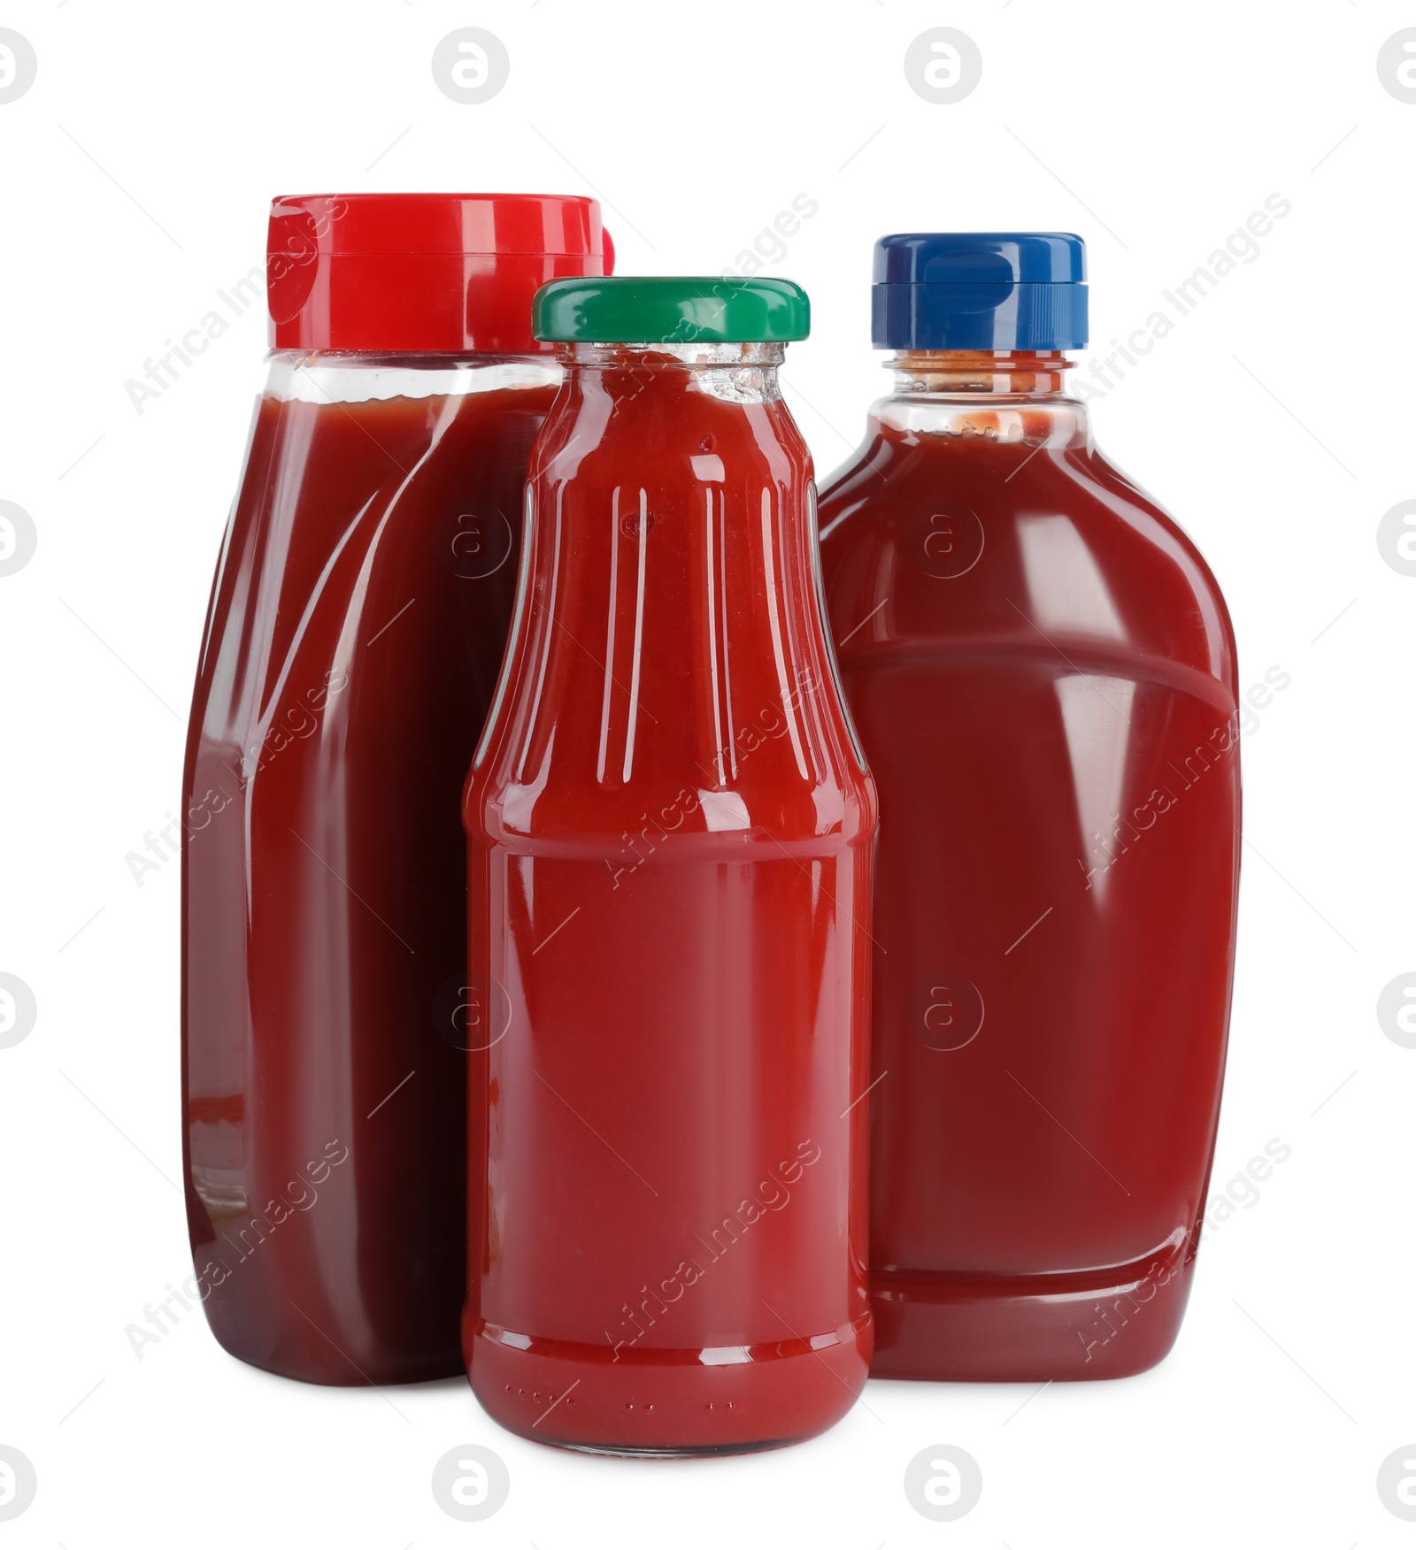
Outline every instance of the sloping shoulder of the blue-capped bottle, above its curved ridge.
[[842, 662], [881, 649], [1145, 657], [1236, 685], [1193, 539], [1089, 436], [876, 434], [820, 496]]

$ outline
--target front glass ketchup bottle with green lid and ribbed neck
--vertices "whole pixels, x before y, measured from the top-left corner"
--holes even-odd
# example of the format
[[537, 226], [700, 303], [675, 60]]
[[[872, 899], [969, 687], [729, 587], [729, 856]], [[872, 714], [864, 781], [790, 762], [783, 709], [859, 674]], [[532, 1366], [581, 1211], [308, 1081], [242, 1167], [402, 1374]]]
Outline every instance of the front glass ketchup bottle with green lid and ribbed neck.
[[[558, 281], [467, 781], [464, 1350], [524, 1437], [693, 1454], [859, 1393], [875, 792], [777, 386], [786, 281]], [[636, 343], [625, 343], [636, 341]]]

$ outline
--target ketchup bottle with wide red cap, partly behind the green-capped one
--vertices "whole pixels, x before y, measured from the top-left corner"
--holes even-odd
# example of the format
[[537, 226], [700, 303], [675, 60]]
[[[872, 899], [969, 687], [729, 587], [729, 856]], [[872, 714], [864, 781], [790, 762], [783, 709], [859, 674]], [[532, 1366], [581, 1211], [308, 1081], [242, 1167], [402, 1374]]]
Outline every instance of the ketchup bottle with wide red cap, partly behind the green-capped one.
[[459, 794], [594, 200], [278, 198], [270, 377], [222, 541], [183, 784], [197, 1288], [228, 1352], [360, 1384], [461, 1370]]

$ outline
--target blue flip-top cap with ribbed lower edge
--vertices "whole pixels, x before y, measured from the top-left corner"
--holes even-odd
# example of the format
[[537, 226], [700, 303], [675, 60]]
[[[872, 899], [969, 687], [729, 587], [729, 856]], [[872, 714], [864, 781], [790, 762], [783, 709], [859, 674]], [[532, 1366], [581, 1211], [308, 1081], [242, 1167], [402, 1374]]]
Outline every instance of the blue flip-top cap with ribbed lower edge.
[[1078, 350], [1087, 246], [1070, 231], [901, 231], [875, 245], [872, 339], [889, 350]]

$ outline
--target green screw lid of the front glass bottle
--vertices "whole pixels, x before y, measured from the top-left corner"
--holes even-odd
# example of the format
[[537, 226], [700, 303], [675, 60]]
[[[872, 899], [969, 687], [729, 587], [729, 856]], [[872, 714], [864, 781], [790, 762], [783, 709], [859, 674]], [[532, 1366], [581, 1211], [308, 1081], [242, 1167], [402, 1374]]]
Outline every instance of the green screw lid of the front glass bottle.
[[811, 302], [791, 281], [585, 276], [537, 291], [530, 332], [568, 344], [766, 344], [805, 339]]

